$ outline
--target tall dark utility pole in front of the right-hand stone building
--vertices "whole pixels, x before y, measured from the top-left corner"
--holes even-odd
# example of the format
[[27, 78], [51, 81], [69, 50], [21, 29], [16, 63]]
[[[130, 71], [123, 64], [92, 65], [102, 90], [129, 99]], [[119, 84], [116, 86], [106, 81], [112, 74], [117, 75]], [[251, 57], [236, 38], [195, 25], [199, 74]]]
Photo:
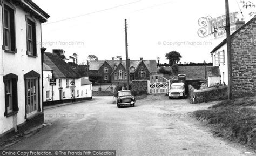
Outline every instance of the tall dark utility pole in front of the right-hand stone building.
[[231, 36], [230, 36], [230, 10], [228, 6], [228, 0], [225, 0], [226, 8], [226, 32], [227, 32], [227, 73], [228, 73], [228, 99], [232, 99], [232, 59], [231, 59]]

